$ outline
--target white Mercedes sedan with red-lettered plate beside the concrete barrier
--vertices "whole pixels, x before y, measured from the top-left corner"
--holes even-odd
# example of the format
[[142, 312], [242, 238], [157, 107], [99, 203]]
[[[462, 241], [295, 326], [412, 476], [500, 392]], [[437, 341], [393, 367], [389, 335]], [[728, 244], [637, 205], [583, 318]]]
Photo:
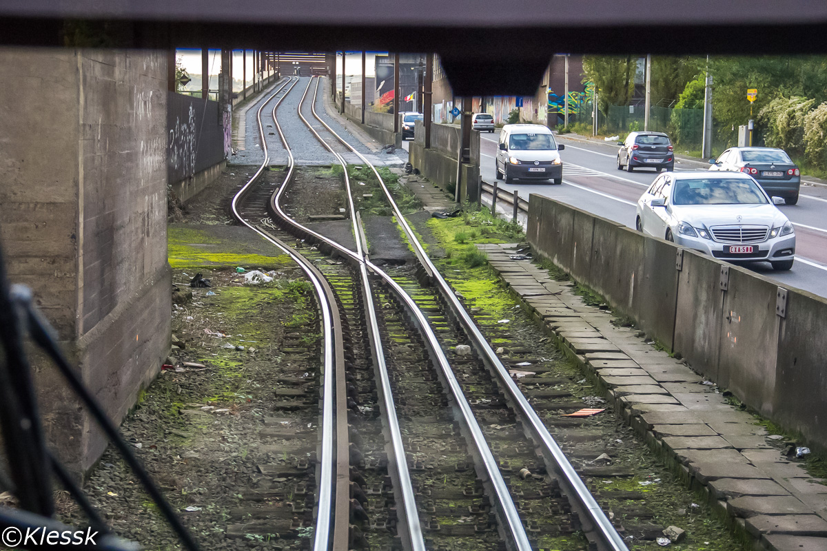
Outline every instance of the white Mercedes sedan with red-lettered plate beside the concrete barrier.
[[728, 262], [769, 262], [792, 268], [796, 231], [744, 173], [663, 173], [638, 199], [635, 225], [644, 234]]

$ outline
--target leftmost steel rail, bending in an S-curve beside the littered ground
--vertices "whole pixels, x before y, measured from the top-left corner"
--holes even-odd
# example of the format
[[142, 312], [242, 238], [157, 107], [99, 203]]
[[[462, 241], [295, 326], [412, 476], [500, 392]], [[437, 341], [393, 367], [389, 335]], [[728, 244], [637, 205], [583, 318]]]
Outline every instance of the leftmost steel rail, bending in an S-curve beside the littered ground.
[[[313, 263], [305, 259], [303, 255], [294, 251], [289, 246], [285, 245], [280, 240], [276, 239], [273, 235], [268, 234], [261, 228], [251, 224], [250, 221], [247, 221], [241, 213], [238, 211], [238, 202], [242, 197], [246, 195], [246, 192], [249, 191], [252, 184], [256, 182], [256, 180], [261, 176], [261, 173], [264, 171], [265, 167], [270, 163], [270, 153], [267, 148], [267, 142], [264, 133], [264, 126], [261, 124], [261, 111], [264, 109], [265, 105], [270, 103], [274, 97], [276, 97], [284, 88], [290, 84], [289, 88], [284, 91], [284, 95], [279, 98], [277, 102], [275, 102], [275, 107], [273, 107], [273, 112], [275, 113], [275, 109], [279, 106], [281, 101], [287, 94], [294, 88], [296, 83], [299, 82], [299, 79], [293, 80], [289, 78], [287, 82], [285, 82], [278, 90], [275, 91], [270, 97], [268, 97], [265, 102], [261, 104], [261, 107], [258, 108], [256, 112], [256, 121], [258, 123], [259, 135], [261, 137], [261, 150], [264, 153], [264, 160], [261, 163], [261, 166], [256, 173], [250, 178], [250, 180], [244, 185], [239, 192], [232, 198], [232, 214], [236, 217], [238, 221], [241, 222], [244, 226], [250, 228], [251, 230], [255, 231], [258, 235], [261, 235], [265, 240], [269, 241], [272, 245], [275, 245], [277, 248], [284, 251], [284, 254], [288, 254], [291, 259], [293, 259], [296, 264], [299, 264], [299, 267], [302, 268], [304, 273], [308, 276], [310, 283], [313, 284], [313, 288], [316, 292], [316, 296], [319, 302], [319, 309], [322, 312], [323, 324], [322, 324], [322, 332], [323, 332], [323, 391], [322, 391], [322, 400], [323, 400], [323, 410], [322, 410], [322, 454], [319, 458], [319, 472], [320, 472], [320, 480], [318, 481], [318, 512], [316, 518], [316, 526], [315, 530], [313, 531], [313, 551], [328, 551], [332, 547], [331, 545], [331, 534], [330, 534], [330, 524], [331, 524], [331, 515], [333, 512], [333, 401], [334, 401], [334, 389], [333, 389], [333, 375], [337, 373], [337, 367], [343, 369], [344, 368], [344, 350], [342, 348], [342, 324], [341, 319], [339, 319], [339, 312], [337, 308], [334, 306], [333, 303], [333, 295], [332, 289], [327, 284], [327, 281], [322, 277], [321, 273], [318, 272], [318, 268], [316, 268]], [[290, 178], [291, 174], [293, 173], [293, 155], [289, 154], [289, 169], [287, 177], [285, 178], [285, 182], [287, 179]], [[341, 363], [338, 363], [341, 359]], [[342, 412], [346, 416], [346, 423], [347, 423], [347, 412]], [[337, 416], [338, 417], [338, 416]], [[347, 475], [349, 476], [349, 474]], [[345, 515], [347, 518], [349, 511], [337, 511], [337, 515]], [[345, 542], [345, 547], [342, 549], [347, 549], [347, 540]]]

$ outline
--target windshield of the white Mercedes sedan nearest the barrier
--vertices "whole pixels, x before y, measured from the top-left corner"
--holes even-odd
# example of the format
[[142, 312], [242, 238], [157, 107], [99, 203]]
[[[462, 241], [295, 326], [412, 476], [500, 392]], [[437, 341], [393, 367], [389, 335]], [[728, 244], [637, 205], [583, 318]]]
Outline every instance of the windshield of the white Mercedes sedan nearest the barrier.
[[756, 205], [767, 197], [747, 178], [679, 179], [672, 192], [673, 205]]

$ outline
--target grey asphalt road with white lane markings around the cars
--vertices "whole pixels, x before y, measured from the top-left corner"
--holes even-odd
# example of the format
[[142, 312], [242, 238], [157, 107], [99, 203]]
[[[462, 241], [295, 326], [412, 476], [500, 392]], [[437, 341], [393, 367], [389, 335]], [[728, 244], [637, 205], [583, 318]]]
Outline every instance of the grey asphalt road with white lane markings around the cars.
[[[497, 132], [480, 136], [480, 172], [487, 183], [495, 181], [498, 136]], [[562, 185], [519, 181], [508, 185], [500, 180], [498, 186], [509, 192], [517, 190], [526, 200], [530, 193], [552, 197], [633, 228], [638, 198], [653, 182], [654, 170], [619, 171], [616, 168], [616, 145], [575, 140], [565, 135], [557, 135], [557, 140], [566, 145], [566, 150], [561, 152]], [[704, 170], [706, 166], [698, 161], [678, 160], [675, 169]], [[779, 208], [796, 226], [796, 264], [786, 273], [773, 271], [767, 263], [748, 264], [748, 268], [774, 278], [782, 285], [827, 297], [827, 188], [803, 186], [797, 205]]]

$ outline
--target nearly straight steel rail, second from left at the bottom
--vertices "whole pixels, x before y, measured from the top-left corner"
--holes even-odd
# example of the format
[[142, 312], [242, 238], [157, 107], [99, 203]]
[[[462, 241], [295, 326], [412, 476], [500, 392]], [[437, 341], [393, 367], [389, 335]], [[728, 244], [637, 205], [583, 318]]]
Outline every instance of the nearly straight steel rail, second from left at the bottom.
[[[313, 78], [311, 78], [311, 81]], [[313, 101], [311, 102], [311, 111], [313, 115], [316, 116], [316, 98], [318, 97], [318, 83], [319, 79], [316, 79], [316, 88], [313, 90]], [[308, 83], [309, 88], [310, 83]], [[359, 274], [361, 278], [361, 285], [362, 285], [362, 292], [365, 296], [365, 305], [367, 309], [367, 321], [370, 326], [370, 347], [373, 352], [373, 358], [375, 360], [375, 367], [379, 373], [380, 379], [380, 391], [382, 396], [382, 401], [385, 406], [385, 416], [387, 416], [388, 422], [388, 431], [390, 435], [390, 444], [391, 450], [393, 452], [392, 457], [395, 458], [394, 460], [389, 461], [390, 467], [395, 470], [396, 479], [399, 482], [399, 492], [401, 493], [401, 506], [403, 515], [401, 518], [404, 519], [402, 525], [405, 527], [405, 533], [402, 534], [404, 536], [403, 541], [407, 541], [409, 544], [409, 549], [412, 551], [425, 551], [425, 539], [423, 538], [422, 533], [422, 526], [419, 523], [419, 515], [417, 512], [417, 505], [416, 505], [416, 498], [414, 497], [414, 487], [411, 483], [411, 477], [408, 470], [408, 461], [405, 456], [405, 449], [404, 443], [402, 441], [402, 431], [399, 428], [399, 419], [396, 416], [396, 407], [394, 406], [394, 397], [393, 397], [393, 390], [390, 387], [390, 375], [388, 374], [388, 365], [385, 361], [385, 349], [382, 346], [382, 338], [380, 335], [380, 328], [379, 328], [379, 319], [376, 316], [375, 310], [375, 303], [374, 303], [374, 294], [373, 289], [370, 285], [370, 278], [368, 278], [367, 268], [366, 268], [366, 260], [368, 259], [367, 250], [365, 247], [366, 243], [366, 235], [365, 230], [362, 228], [361, 223], [357, 220], [358, 216], [356, 213], [356, 206], [353, 203], [353, 194], [351, 192], [351, 179], [347, 174], [347, 161], [342, 157], [341, 154], [338, 154], [335, 150], [333, 150], [332, 145], [327, 143], [327, 141], [322, 139], [322, 136], [318, 134], [316, 129], [304, 118], [304, 115], [301, 112], [302, 103], [304, 102], [304, 97], [302, 97], [302, 102], [299, 102], [299, 117], [301, 117], [304, 124], [313, 132], [313, 135], [316, 136], [318, 141], [330, 151], [334, 157], [336, 157], [339, 164], [342, 165], [342, 169], [345, 174], [345, 188], [347, 190], [347, 204], [351, 211], [351, 226], [353, 229], [353, 235], [356, 239], [356, 256], [359, 260]], [[317, 116], [318, 118], [318, 116]]]

